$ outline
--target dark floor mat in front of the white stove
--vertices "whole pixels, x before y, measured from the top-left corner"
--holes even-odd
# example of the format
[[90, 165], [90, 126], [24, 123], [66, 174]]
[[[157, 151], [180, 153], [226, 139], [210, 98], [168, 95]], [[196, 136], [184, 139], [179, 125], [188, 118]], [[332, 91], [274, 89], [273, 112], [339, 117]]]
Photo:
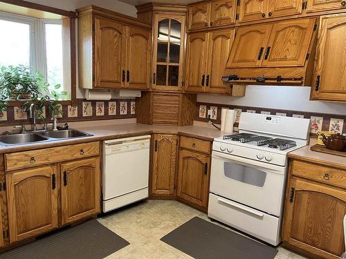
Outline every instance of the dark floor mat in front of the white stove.
[[195, 217], [161, 240], [197, 259], [273, 259], [277, 249]]

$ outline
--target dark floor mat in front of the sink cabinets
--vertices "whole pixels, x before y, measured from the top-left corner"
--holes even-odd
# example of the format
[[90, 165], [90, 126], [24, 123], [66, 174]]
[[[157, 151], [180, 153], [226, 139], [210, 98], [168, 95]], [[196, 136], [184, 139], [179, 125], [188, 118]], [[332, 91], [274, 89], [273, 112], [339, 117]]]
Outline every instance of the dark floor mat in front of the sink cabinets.
[[0, 254], [0, 259], [101, 259], [129, 244], [97, 220], [89, 220]]

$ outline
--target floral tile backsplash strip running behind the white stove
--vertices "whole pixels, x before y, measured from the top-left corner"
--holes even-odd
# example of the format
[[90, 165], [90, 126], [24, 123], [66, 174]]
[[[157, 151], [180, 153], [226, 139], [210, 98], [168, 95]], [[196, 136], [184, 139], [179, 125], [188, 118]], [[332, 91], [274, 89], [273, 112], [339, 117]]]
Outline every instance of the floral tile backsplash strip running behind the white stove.
[[235, 122], [239, 122], [239, 117], [242, 112], [248, 113], [262, 113], [268, 115], [277, 116], [290, 116], [290, 117], [304, 117], [311, 119], [312, 134], [318, 133], [318, 131], [333, 131], [335, 133], [346, 133], [346, 115], [333, 115], [324, 113], [308, 113], [302, 111], [286, 111], [272, 108], [259, 108], [249, 106], [233, 106], [226, 104], [211, 104], [204, 102], [197, 102], [195, 119], [200, 122], [208, 122], [208, 111], [214, 111], [217, 115], [211, 117], [212, 122], [217, 124], [221, 123], [221, 108], [230, 108], [236, 111]]

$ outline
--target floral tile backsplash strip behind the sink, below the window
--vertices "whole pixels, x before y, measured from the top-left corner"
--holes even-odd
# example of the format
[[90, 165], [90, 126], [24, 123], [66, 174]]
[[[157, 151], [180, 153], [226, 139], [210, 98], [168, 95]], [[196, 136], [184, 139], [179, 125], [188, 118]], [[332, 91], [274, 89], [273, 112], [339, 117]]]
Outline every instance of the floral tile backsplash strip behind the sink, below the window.
[[[62, 115], [57, 116], [58, 122], [80, 122], [98, 119], [128, 119], [136, 118], [136, 102], [134, 99], [111, 99], [110, 101], [88, 101], [78, 99], [75, 106], [62, 105]], [[46, 107], [44, 111], [46, 119], [38, 122], [50, 122], [51, 115]], [[0, 112], [0, 126], [11, 124], [30, 123], [28, 113], [19, 106], [9, 106], [7, 111]]]

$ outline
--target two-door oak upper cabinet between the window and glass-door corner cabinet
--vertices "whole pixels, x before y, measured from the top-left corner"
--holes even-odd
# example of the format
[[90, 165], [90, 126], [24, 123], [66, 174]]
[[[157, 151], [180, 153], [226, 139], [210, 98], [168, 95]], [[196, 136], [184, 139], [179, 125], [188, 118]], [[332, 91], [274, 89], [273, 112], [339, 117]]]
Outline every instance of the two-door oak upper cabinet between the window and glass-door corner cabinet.
[[88, 6], [78, 28], [80, 88], [149, 88], [151, 26]]

